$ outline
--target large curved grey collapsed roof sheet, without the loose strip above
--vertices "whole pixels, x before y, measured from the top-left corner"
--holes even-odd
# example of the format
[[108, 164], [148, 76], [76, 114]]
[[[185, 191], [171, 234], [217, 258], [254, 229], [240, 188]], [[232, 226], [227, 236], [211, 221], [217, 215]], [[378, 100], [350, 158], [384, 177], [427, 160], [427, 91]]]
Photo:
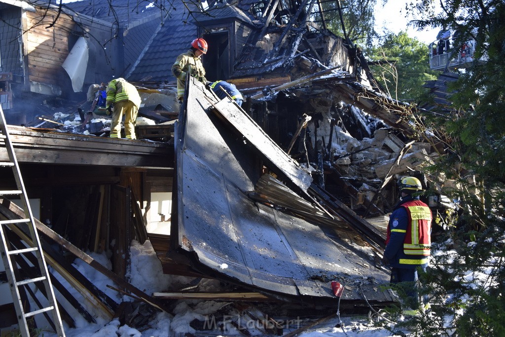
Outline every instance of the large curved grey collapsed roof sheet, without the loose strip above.
[[[203, 84], [189, 82], [176, 138], [178, 220], [173, 232], [178, 232], [180, 248], [196, 257], [193, 267], [210, 268], [277, 296], [312, 300], [336, 299], [331, 280], [365, 279], [365, 288], [386, 282], [384, 270], [370, 267], [369, 248], [338, 235], [331, 238], [313, 223], [247, 198], [261, 175], [256, 156], [262, 148], [255, 151], [236, 136], [231, 118], [212, 113], [216, 97]], [[233, 114], [243, 112], [235, 107]], [[249, 127], [258, 126], [250, 122]], [[358, 290], [344, 292], [343, 298], [363, 300]], [[375, 291], [367, 298], [393, 301]]]

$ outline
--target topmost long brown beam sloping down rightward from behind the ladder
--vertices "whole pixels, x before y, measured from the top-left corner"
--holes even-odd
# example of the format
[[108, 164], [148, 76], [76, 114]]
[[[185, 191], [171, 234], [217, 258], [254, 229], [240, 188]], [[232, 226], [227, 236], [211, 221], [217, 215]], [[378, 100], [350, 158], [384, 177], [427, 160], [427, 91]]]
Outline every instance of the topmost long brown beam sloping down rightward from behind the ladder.
[[[5, 204], [8, 203], [9, 205], [6, 206]], [[24, 218], [25, 213], [24, 211], [17, 206], [16, 204], [8, 201], [5, 198], [0, 198], [0, 210], [2, 208], [7, 207], [11, 212], [17, 215], [18, 218]], [[4, 212], [2, 212], [4, 214]], [[114, 272], [110, 271], [107, 269], [107, 267], [103, 266], [102, 264], [98, 263], [96, 260], [94, 260], [91, 256], [87, 255], [86, 253], [82, 252], [80, 249], [75, 247], [72, 243], [64, 239], [61, 235], [53, 231], [51, 228], [47, 227], [44, 225], [42, 222], [40, 222], [37, 219], [35, 220], [35, 225], [37, 227], [37, 230], [40, 231], [41, 233], [47, 235], [49, 238], [54, 240], [58, 245], [62, 246], [65, 248], [65, 250], [69, 251], [70, 253], [74, 254], [75, 257], [81, 259], [82, 261], [86, 262], [89, 264], [91, 267], [99, 271], [100, 273], [104, 274], [105, 276], [109, 277], [111, 280], [116, 282], [121, 287], [124, 287], [126, 290], [128, 290], [130, 293], [134, 294], [135, 296], [142, 298], [144, 301], [148, 302], [150, 305], [160, 309], [164, 310], [166, 312], [170, 312], [168, 308], [165, 307], [165, 305], [161, 302], [158, 302], [156, 299], [151, 298], [132, 284], [126, 282], [123, 278], [119, 277], [117, 274]], [[44, 254], [45, 256], [45, 254]], [[63, 276], [63, 275], [62, 275]], [[112, 317], [112, 315], [111, 315]]]

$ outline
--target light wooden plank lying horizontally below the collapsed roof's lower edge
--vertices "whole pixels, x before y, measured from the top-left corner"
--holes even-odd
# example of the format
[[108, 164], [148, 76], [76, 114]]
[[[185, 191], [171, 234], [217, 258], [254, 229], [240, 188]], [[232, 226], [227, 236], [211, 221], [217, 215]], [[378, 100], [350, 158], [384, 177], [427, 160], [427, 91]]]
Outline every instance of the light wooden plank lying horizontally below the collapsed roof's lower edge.
[[277, 301], [276, 299], [271, 299], [263, 294], [255, 292], [153, 293], [153, 297], [159, 299], [177, 299], [177, 300], [206, 299], [206, 300], [241, 301], [241, 302]]

